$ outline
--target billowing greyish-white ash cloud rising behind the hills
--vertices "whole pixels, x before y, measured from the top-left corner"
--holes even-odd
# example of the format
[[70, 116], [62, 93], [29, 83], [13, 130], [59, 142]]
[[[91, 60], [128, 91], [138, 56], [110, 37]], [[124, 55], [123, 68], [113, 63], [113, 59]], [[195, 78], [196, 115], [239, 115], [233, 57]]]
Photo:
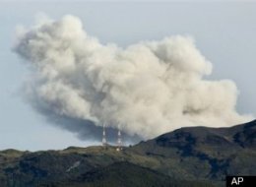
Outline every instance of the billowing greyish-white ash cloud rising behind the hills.
[[123, 49], [101, 44], [78, 18], [65, 16], [20, 33], [14, 48], [32, 65], [25, 87], [32, 106], [86, 138], [96, 136], [102, 122], [147, 139], [183, 126], [249, 120], [235, 111], [232, 81], [203, 79], [212, 64], [191, 37]]

